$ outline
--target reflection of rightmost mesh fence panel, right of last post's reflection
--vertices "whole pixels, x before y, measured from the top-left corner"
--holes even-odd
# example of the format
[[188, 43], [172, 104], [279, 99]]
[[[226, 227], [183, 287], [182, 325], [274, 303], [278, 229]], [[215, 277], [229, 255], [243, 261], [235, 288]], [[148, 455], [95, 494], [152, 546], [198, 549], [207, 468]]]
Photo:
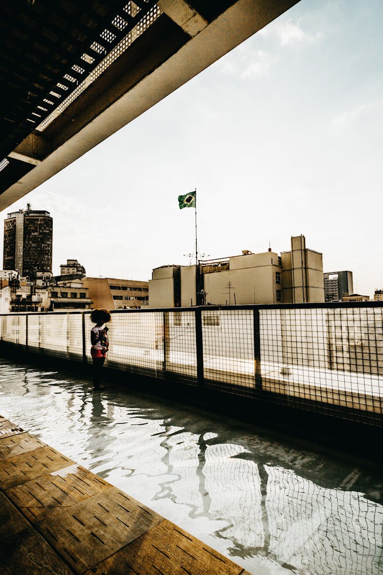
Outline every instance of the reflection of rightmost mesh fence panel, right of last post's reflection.
[[288, 469], [265, 469], [270, 551], [312, 575], [381, 573], [382, 505]]

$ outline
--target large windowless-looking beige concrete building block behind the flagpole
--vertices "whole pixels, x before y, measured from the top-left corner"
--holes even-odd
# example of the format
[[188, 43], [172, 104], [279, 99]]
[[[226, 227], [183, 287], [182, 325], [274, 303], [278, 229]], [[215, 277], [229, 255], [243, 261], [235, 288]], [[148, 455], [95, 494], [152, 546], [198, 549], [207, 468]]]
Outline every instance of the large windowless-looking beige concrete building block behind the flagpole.
[[149, 280], [150, 308], [194, 305], [323, 302], [322, 254], [292, 237], [292, 250], [269, 251], [216, 260], [198, 266], [162, 266]]

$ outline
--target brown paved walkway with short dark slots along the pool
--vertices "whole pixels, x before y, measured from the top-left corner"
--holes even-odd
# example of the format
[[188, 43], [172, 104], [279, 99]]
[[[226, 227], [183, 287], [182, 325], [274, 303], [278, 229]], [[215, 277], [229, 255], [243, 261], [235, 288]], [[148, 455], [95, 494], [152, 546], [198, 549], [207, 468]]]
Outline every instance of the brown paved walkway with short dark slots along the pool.
[[1, 416], [0, 573], [250, 575]]

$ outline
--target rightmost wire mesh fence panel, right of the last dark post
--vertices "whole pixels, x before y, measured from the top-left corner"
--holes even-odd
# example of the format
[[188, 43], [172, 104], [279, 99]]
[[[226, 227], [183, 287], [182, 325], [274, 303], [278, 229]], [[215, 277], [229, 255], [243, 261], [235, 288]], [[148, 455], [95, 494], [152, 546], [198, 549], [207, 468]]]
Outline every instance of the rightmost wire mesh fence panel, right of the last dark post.
[[382, 413], [381, 308], [260, 310], [262, 390], [293, 407], [370, 421]]

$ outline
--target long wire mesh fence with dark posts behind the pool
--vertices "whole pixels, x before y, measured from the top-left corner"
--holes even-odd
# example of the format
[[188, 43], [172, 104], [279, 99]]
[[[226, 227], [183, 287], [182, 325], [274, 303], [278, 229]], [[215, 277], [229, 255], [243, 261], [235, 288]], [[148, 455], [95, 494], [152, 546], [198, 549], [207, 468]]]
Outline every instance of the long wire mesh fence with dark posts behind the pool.
[[[1, 339], [91, 363], [90, 313], [0, 316]], [[106, 367], [382, 424], [383, 306], [112, 312]]]

